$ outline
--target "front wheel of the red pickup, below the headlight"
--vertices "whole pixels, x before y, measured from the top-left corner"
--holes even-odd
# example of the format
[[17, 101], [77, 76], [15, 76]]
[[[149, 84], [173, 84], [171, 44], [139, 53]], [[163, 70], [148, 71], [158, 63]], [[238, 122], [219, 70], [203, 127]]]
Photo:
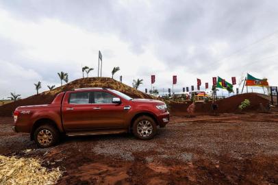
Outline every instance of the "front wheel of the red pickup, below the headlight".
[[[146, 125], [146, 128], [141, 129], [142, 125]], [[155, 121], [150, 116], [140, 116], [138, 119], [134, 121], [133, 125], [133, 133], [136, 138], [139, 138], [141, 140], [148, 140], [155, 136], [157, 132], [157, 125]], [[152, 128], [150, 133], [150, 128]], [[149, 130], [148, 130], [149, 129]]]

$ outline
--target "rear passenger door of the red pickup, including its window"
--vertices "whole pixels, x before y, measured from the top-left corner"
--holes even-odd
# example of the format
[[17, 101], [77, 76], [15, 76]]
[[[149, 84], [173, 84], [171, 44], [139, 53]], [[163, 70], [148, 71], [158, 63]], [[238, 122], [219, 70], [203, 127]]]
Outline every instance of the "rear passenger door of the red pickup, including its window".
[[92, 125], [92, 93], [70, 93], [62, 105], [64, 130], [86, 130]]

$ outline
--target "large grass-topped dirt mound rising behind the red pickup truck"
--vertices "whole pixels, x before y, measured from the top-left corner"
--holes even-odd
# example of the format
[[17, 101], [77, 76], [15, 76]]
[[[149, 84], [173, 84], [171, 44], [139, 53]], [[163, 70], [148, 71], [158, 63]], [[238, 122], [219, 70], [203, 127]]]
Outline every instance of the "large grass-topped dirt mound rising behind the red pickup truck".
[[102, 87], [102, 88], [112, 88], [115, 90], [119, 90], [126, 95], [129, 95], [133, 98], [148, 98], [152, 99], [150, 95], [142, 93], [139, 90], [131, 88], [125, 84], [122, 84], [115, 79], [110, 77], [86, 77], [81, 79], [76, 79], [73, 82], [65, 84], [64, 86], [60, 86], [53, 90], [48, 90], [39, 95], [33, 95], [31, 97], [27, 97], [25, 99], [21, 99], [12, 103], [5, 104], [0, 107], [0, 116], [11, 116], [12, 112], [18, 106], [32, 106], [32, 105], [40, 105], [40, 104], [49, 104], [54, 99], [56, 95], [66, 90], [72, 90], [74, 88], [94, 88], [94, 87]]

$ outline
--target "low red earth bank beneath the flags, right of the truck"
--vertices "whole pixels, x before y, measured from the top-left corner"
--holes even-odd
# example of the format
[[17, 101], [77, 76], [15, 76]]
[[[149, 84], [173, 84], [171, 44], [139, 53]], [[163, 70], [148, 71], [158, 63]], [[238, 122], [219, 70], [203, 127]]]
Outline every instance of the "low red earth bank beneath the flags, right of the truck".
[[[268, 99], [257, 93], [246, 93], [235, 95], [226, 99], [216, 101], [219, 113], [239, 112], [238, 106], [244, 99], [249, 99], [251, 105], [245, 108], [244, 112], [256, 112], [262, 110], [262, 106], [266, 107]], [[191, 103], [170, 103], [171, 116], [187, 116], [187, 108]], [[212, 103], [196, 103], [194, 106], [194, 114], [211, 114]]]

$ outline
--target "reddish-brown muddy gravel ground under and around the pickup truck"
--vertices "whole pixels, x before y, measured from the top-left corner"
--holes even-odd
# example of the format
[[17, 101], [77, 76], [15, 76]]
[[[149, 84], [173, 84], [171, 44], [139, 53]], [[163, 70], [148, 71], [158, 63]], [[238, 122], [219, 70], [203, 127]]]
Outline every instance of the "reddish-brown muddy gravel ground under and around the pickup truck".
[[278, 112], [171, 117], [152, 140], [71, 137], [49, 149], [11, 124], [0, 117], [0, 154], [61, 167], [58, 184], [278, 184]]

